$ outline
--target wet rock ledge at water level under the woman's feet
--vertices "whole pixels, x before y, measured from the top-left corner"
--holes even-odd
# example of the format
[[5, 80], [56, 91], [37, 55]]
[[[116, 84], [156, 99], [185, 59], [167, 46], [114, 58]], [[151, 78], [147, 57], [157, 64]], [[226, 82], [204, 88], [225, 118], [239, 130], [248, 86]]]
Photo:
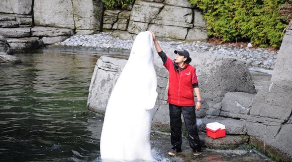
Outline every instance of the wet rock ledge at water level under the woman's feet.
[[[207, 139], [211, 143], [218, 143], [218, 141], [224, 141], [225, 139], [219, 138], [213, 140], [203, 134], [200, 134], [199, 137], [202, 141]], [[168, 152], [172, 147], [170, 143], [170, 135], [163, 135], [160, 133], [151, 134], [151, 147], [157, 152], [157, 154], [161, 155], [160, 161], [167, 162], [274, 162], [258, 153], [256, 150], [245, 149], [244, 146], [233, 147], [232, 149], [225, 148], [224, 150], [214, 150], [205, 144], [203, 147], [203, 154], [195, 157], [186, 137], [183, 137], [183, 151], [172, 157], [168, 155]]]

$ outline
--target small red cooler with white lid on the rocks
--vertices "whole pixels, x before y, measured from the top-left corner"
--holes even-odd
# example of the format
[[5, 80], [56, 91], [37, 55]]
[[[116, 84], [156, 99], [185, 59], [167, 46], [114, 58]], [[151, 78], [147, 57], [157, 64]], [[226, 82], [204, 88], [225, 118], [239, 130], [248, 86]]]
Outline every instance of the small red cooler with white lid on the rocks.
[[226, 136], [225, 125], [218, 123], [218, 122], [208, 123], [206, 125], [206, 131], [207, 131], [207, 136], [209, 136], [213, 139]]

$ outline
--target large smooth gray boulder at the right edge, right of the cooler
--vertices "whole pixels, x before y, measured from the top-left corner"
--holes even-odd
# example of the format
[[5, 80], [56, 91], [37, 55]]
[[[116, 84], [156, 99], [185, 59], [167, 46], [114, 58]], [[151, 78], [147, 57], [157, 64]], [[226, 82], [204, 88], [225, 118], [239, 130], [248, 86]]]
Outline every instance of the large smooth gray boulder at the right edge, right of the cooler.
[[247, 134], [255, 137], [255, 142], [263, 143], [267, 151], [275, 151], [287, 161], [292, 159], [291, 99], [291, 82], [265, 84], [255, 97], [246, 124]]

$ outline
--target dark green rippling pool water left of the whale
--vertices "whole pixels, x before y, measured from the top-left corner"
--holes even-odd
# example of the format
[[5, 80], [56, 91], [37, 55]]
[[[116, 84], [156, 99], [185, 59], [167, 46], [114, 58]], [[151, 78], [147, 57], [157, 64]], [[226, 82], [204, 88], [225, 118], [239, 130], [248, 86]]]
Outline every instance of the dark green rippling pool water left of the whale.
[[23, 63], [0, 65], [0, 162], [97, 159], [102, 120], [86, 104], [104, 54], [51, 49], [14, 55]]

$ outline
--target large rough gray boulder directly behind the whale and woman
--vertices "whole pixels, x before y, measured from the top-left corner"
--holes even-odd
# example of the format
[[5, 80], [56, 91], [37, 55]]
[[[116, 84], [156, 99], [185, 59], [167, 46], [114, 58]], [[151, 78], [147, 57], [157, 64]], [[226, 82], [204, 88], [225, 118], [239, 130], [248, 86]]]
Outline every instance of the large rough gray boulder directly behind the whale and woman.
[[[165, 50], [169, 57], [174, 58], [174, 50]], [[191, 53], [195, 58], [191, 62], [197, 70], [199, 87], [204, 100], [203, 107], [197, 112], [197, 116], [202, 118], [207, 115], [219, 116], [221, 100], [227, 92], [245, 92], [254, 94], [255, 88], [251, 75], [244, 62], [228, 57], [215, 56], [210, 54]], [[107, 99], [111, 92], [121, 68], [126, 63], [119, 59], [101, 57], [97, 61], [97, 66], [91, 82], [88, 99], [89, 108], [96, 111], [104, 111]], [[120, 64], [117, 64], [120, 63]], [[154, 65], [158, 78], [158, 98], [156, 102], [157, 112], [153, 122], [159, 124], [169, 124], [167, 92], [168, 92], [168, 72], [162, 65], [162, 60], [155, 55]], [[114, 69], [114, 70], [112, 70]], [[238, 69], [232, 70], [232, 69]], [[244, 105], [244, 104], [243, 104]]]

